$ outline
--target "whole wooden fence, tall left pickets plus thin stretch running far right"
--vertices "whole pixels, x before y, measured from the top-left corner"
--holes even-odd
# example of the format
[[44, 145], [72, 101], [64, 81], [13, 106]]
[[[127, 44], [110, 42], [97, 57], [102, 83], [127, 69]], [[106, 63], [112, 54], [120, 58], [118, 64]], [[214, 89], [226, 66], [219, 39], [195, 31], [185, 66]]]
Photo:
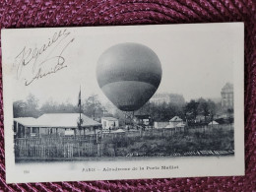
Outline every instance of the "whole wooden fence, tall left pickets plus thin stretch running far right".
[[[28, 160], [72, 160], [82, 157], [115, 156], [113, 141], [124, 137], [171, 137], [176, 133], [209, 133], [213, 129], [232, 130], [233, 125], [197, 126], [184, 129], [148, 129], [125, 133], [104, 133], [82, 136], [43, 136], [15, 139], [15, 158]], [[108, 140], [109, 143], [104, 142]]]

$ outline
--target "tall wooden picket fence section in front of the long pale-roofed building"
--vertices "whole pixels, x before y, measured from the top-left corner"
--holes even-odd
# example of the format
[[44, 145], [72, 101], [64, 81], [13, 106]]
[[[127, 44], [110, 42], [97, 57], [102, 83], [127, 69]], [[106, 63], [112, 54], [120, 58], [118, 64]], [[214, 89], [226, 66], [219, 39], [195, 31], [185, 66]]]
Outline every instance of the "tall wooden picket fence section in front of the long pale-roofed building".
[[16, 158], [72, 159], [98, 157], [102, 144], [92, 137], [40, 137], [15, 139]]

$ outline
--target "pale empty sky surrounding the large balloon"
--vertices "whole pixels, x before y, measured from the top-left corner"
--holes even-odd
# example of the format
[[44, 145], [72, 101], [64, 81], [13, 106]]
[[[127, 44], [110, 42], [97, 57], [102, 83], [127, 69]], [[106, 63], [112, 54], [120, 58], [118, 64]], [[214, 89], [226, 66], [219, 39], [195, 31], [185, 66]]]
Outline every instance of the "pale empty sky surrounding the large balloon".
[[[69, 34], [61, 40], [63, 35], [57, 39], [55, 32]], [[233, 82], [236, 36], [229, 25], [34, 29], [10, 31], [6, 36], [10, 43], [5, 45], [4, 64], [12, 66], [14, 100], [26, 99], [32, 94], [40, 104], [49, 99], [77, 103], [81, 87], [82, 98], [96, 94], [102, 102], [106, 102], [108, 99], [96, 82], [96, 63], [103, 51], [121, 42], [142, 43], [159, 56], [162, 78], [157, 93], [180, 94], [187, 101], [201, 96], [216, 98], [221, 97], [225, 83]], [[22, 52], [29, 48], [32, 51], [35, 48], [42, 50], [42, 45], [52, 39], [56, 41], [36, 60], [33, 58], [30, 61], [32, 54], [28, 56], [28, 52]], [[57, 59], [48, 61], [47, 58], [49, 55], [60, 55], [62, 50], [65, 68], [25, 86], [25, 79], [32, 80], [39, 67], [47, 72], [55, 66]], [[28, 65], [19, 71], [22, 56], [28, 56]], [[32, 72], [33, 65], [35, 69]], [[20, 72], [19, 78], [17, 72]]]

